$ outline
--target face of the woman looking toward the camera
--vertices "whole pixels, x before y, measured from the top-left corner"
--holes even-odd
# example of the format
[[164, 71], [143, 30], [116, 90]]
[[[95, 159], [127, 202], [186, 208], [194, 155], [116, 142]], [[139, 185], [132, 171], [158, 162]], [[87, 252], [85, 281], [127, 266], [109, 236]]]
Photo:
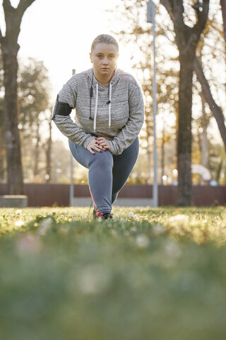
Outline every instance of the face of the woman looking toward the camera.
[[93, 62], [93, 68], [97, 75], [112, 76], [117, 66], [118, 52], [114, 44], [99, 42], [95, 45], [90, 60]]

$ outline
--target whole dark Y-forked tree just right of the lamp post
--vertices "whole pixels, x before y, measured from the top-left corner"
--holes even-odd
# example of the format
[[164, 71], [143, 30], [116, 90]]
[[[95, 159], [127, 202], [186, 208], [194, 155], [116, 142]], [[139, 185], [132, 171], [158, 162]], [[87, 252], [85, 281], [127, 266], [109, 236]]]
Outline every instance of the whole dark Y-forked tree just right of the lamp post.
[[[194, 59], [198, 40], [206, 26], [209, 0], [194, 4], [196, 23], [185, 18], [184, 3], [179, 0], [160, 0], [174, 24], [179, 50], [179, 115], [177, 134], [178, 192], [177, 204], [192, 205], [191, 182], [191, 106]], [[191, 8], [190, 8], [191, 9]], [[193, 13], [194, 14], [194, 13]], [[186, 22], [186, 23], [185, 23]], [[193, 27], [190, 27], [193, 24]]]

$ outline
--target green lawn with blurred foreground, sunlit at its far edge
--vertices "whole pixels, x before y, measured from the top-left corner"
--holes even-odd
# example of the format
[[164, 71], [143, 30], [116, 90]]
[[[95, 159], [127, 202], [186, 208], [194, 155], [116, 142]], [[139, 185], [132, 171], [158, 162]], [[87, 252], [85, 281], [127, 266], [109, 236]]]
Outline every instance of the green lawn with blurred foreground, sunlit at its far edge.
[[0, 209], [1, 340], [226, 339], [226, 211]]

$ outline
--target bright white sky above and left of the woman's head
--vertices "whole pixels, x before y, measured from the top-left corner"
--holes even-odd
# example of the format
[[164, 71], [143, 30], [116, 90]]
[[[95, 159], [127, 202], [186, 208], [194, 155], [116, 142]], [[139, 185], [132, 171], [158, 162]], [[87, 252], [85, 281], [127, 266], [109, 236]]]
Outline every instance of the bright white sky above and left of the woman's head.
[[[35, 0], [25, 11], [20, 26], [18, 57], [23, 62], [28, 57], [44, 61], [53, 91], [57, 93], [71, 77], [72, 69], [78, 73], [91, 67], [90, 45], [97, 35], [112, 34], [111, 15], [106, 9], [114, 8], [117, 1]], [[12, 6], [18, 2], [11, 0]], [[2, 30], [3, 22], [1, 6]], [[122, 52], [118, 65], [131, 71], [128, 51]]]

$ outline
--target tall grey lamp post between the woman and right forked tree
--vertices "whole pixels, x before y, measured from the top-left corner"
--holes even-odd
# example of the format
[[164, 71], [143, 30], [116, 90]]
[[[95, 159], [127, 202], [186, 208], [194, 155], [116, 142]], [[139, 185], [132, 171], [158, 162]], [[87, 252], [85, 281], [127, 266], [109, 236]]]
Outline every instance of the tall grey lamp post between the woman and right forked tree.
[[154, 183], [153, 183], [153, 207], [158, 206], [157, 192], [157, 142], [156, 142], [156, 114], [157, 114], [157, 86], [156, 86], [156, 63], [155, 63], [155, 4], [153, 1], [147, 3], [147, 22], [153, 24], [153, 161], [154, 161]]

